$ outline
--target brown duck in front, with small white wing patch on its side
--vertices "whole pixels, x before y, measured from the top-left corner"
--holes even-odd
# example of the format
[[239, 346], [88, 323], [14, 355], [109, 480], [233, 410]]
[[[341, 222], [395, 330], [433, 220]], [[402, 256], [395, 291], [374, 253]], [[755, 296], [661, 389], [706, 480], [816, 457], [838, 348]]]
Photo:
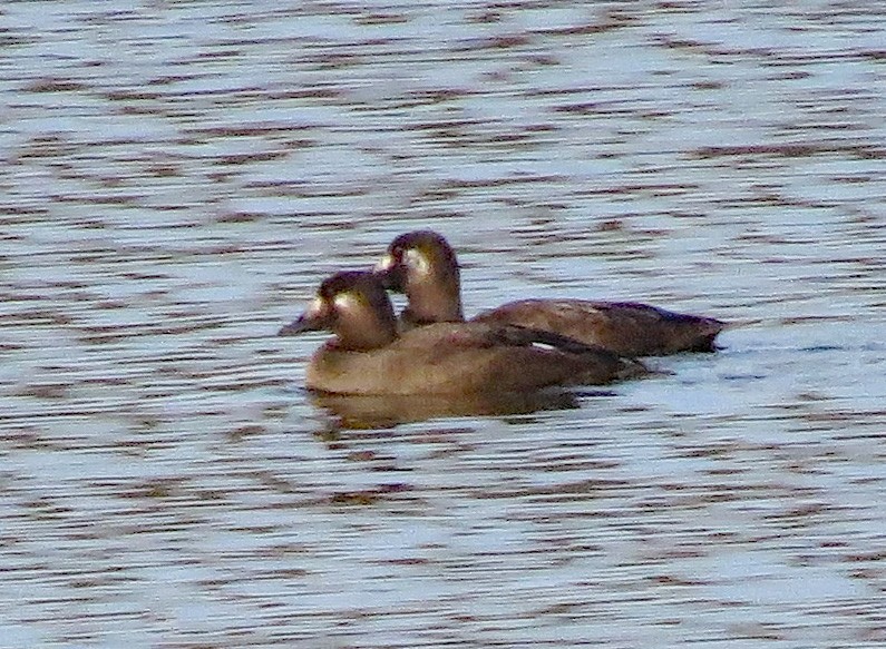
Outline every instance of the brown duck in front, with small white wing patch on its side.
[[279, 335], [331, 331], [311, 357], [305, 386], [352, 395], [483, 395], [642, 376], [634, 360], [494, 322], [439, 322], [398, 331], [393, 306], [373, 271], [324, 279], [313, 301]]

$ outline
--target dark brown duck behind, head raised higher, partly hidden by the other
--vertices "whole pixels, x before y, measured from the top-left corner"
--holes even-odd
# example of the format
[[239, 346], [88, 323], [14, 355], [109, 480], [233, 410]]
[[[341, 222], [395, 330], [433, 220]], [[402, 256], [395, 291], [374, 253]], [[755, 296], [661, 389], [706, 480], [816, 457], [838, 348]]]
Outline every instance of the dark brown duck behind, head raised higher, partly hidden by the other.
[[[464, 322], [456, 253], [434, 230], [402, 234], [391, 242], [376, 273], [389, 291], [405, 293], [405, 328]], [[473, 323], [518, 325], [573, 338], [620, 356], [714, 352], [726, 322], [675, 313], [636, 302], [528, 298], [480, 312]]]

